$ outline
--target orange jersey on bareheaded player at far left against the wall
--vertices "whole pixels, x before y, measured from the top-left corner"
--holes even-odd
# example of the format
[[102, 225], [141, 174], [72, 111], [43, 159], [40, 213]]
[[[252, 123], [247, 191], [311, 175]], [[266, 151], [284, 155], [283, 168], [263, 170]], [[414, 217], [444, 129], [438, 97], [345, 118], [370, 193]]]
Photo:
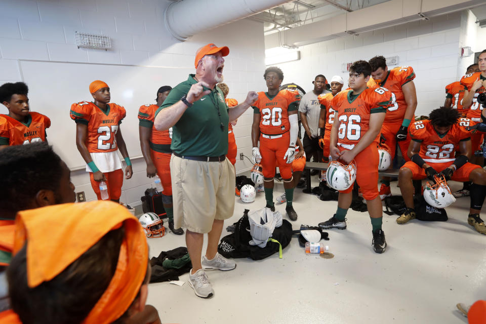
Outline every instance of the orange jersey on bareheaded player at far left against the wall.
[[0, 115], [0, 145], [22, 145], [46, 141], [46, 129], [51, 126], [51, 119], [38, 112], [31, 112], [27, 116], [27, 123]]

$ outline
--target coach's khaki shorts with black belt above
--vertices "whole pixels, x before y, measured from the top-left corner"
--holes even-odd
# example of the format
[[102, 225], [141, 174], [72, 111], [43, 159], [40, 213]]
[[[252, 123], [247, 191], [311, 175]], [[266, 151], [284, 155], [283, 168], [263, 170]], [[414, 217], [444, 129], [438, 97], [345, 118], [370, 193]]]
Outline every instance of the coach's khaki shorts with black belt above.
[[174, 227], [208, 233], [215, 219], [234, 212], [234, 167], [223, 162], [194, 161], [171, 157]]

